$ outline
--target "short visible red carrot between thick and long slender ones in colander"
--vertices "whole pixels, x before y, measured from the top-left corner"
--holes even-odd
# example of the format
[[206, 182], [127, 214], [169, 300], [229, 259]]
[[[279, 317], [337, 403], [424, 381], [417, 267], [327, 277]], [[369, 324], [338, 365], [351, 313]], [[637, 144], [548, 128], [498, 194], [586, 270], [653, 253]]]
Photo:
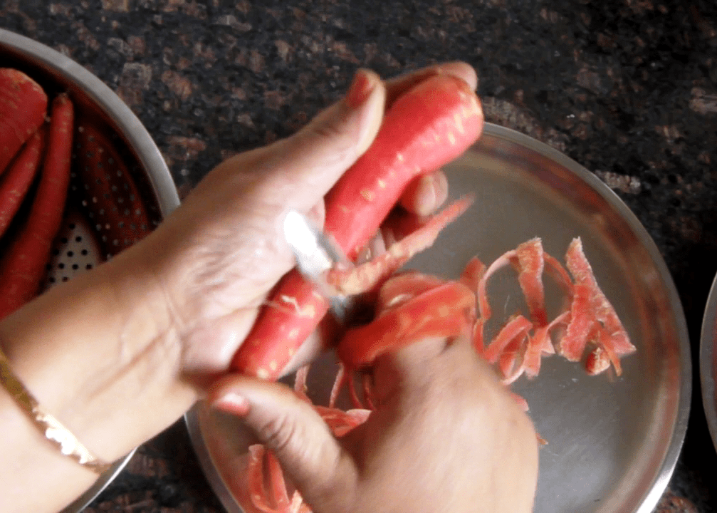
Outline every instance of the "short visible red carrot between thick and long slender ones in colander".
[[0, 181], [0, 237], [10, 225], [32, 180], [37, 173], [42, 149], [44, 130], [40, 129], [25, 143], [19, 156], [9, 166]]

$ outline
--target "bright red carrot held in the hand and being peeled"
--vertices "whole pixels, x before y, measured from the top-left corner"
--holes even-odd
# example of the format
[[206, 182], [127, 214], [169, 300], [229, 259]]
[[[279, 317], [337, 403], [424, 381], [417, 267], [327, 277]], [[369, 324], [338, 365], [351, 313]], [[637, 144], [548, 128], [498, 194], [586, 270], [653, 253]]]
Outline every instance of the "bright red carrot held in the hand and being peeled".
[[[325, 230], [353, 259], [379, 229], [409, 182], [460, 156], [483, 130], [473, 90], [435, 75], [387, 110], [374, 143], [326, 196]], [[232, 360], [232, 369], [275, 380], [326, 314], [315, 287], [292, 270], [268, 301]]]

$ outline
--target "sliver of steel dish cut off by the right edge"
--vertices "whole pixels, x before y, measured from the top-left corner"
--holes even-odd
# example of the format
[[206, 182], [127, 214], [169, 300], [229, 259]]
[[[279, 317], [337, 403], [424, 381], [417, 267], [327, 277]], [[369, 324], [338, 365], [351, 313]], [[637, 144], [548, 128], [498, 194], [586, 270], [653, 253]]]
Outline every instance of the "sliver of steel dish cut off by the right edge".
[[702, 406], [707, 418], [712, 444], [717, 450], [717, 405], [715, 404], [715, 379], [713, 366], [714, 339], [717, 329], [717, 275], [712, 281], [700, 331], [700, 384]]

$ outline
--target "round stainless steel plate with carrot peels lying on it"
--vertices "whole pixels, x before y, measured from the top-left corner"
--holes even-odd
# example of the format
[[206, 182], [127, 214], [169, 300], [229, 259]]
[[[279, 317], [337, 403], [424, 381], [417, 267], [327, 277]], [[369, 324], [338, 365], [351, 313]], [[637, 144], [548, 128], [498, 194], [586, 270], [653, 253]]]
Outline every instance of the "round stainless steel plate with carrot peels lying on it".
[[[579, 364], [551, 357], [536, 380], [514, 385], [549, 442], [541, 448], [536, 513], [652, 511], [677, 461], [690, 405], [685, 319], [655, 244], [587, 169], [515, 131], [488, 125], [446, 171], [452, 194], [475, 194], [475, 205], [410, 267], [455, 277], [473, 255], [490, 262], [535, 236], [562, 260], [579, 236], [637, 346], [619, 378], [589, 377]], [[524, 308], [511, 280], [496, 280], [494, 308], [505, 305], [505, 315]], [[556, 304], [558, 291], [547, 291]], [[313, 377], [323, 387], [330, 362], [319, 362]], [[202, 405], [186, 421], [214, 490], [229, 512], [240, 512], [232, 483], [247, 443], [241, 424]]]

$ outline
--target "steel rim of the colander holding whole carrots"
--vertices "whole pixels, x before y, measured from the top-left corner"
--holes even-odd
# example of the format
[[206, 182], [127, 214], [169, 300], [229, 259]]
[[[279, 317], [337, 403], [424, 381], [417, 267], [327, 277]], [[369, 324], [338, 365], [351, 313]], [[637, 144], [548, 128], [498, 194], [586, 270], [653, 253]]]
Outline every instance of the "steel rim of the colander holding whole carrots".
[[[0, 28], [0, 51], [9, 50], [27, 58], [33, 65], [44, 68], [53, 77], [75, 83], [95, 103], [108, 118], [113, 121], [125, 136], [130, 148], [136, 151], [138, 160], [144, 169], [148, 169], [148, 179], [156, 196], [162, 217], [166, 217], [179, 206], [179, 194], [176, 192], [166, 162], [153, 138], [139, 118], [130, 110], [120, 97], [98, 77], [82, 67], [78, 62], [46, 44], [25, 37], [22, 34]], [[137, 448], [116, 461], [108, 471], [98, 477], [92, 486], [60, 513], [79, 513], [85, 509], [125, 468]]]

